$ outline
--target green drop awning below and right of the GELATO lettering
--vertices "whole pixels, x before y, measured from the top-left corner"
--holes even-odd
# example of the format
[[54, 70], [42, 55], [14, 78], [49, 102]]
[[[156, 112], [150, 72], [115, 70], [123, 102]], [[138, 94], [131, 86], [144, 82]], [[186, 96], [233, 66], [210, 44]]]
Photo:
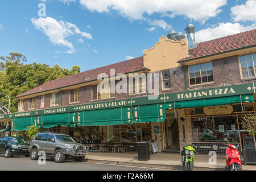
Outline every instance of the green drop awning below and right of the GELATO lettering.
[[161, 122], [166, 119], [164, 104], [133, 107], [133, 123]]

